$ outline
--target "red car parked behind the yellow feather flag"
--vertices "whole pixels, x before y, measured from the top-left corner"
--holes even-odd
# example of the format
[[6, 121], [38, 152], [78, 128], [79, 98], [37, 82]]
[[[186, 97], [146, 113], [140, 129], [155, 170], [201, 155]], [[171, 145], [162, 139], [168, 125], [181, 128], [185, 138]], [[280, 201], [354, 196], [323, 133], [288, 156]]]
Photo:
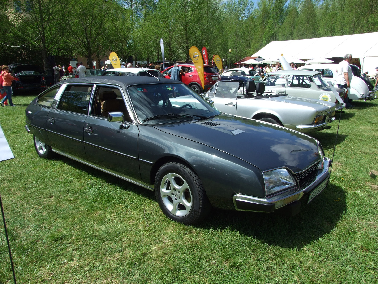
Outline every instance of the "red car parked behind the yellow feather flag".
[[[202, 84], [200, 77], [198, 76], [197, 70], [195, 70], [194, 64], [190, 63], [183, 63], [177, 64], [178, 67], [181, 67], [183, 73], [180, 74], [180, 81], [184, 84], [191, 87], [196, 93], [201, 94], [202, 92], [206, 92], [210, 89], [215, 83], [220, 80], [220, 75], [217, 70], [215, 70], [212, 66], [204, 65], [203, 66], [203, 75], [204, 75], [204, 83], [205, 89], [202, 89]], [[161, 71], [164, 78], [169, 79], [170, 75], [167, 73], [169, 69], [173, 68], [173, 66], [168, 67], [164, 71]]]

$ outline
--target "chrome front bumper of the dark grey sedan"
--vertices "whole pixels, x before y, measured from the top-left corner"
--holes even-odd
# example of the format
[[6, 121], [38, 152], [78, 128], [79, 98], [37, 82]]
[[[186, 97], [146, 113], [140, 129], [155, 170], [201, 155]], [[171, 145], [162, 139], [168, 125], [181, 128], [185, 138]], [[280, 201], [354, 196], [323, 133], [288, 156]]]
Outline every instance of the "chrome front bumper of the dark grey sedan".
[[303, 196], [321, 184], [325, 179], [329, 178], [328, 169], [331, 166], [332, 161], [328, 158], [324, 158], [323, 170], [318, 173], [316, 179], [309, 186], [304, 189], [293, 189], [288, 192], [283, 192], [272, 197], [259, 198], [243, 194], [235, 194], [232, 197], [234, 201], [235, 209], [238, 211], [255, 211], [255, 212], [273, 212], [274, 210], [281, 208], [294, 201], [301, 200]]

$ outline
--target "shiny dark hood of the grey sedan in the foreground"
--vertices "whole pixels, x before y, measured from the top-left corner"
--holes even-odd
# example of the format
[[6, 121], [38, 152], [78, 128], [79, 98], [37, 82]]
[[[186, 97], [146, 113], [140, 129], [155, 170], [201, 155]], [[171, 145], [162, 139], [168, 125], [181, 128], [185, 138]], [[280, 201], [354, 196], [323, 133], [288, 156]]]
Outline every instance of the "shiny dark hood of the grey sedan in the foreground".
[[226, 152], [263, 171], [288, 167], [296, 173], [320, 160], [314, 138], [233, 115], [155, 128]]

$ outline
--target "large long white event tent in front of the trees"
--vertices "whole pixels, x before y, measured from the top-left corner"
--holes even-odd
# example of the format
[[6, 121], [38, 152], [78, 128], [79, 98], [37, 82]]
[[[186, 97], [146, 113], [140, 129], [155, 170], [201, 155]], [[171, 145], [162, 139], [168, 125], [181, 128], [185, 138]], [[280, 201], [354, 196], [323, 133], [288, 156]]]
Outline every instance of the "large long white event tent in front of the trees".
[[285, 58], [302, 60], [343, 58], [345, 54], [350, 53], [353, 58], [359, 58], [363, 72], [368, 71], [369, 75], [373, 75], [376, 73], [375, 67], [378, 66], [378, 32], [293, 41], [272, 41], [252, 56], [279, 58], [281, 53]]

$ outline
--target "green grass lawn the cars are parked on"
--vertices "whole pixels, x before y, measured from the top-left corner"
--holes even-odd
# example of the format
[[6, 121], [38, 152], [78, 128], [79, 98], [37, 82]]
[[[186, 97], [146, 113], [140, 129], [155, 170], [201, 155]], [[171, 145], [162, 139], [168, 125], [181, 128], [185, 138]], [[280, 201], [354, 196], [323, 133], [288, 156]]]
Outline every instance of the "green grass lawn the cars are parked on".
[[[0, 108], [15, 156], [0, 163], [0, 192], [18, 283], [378, 283], [378, 177], [369, 175], [378, 100], [342, 114], [330, 184], [299, 215], [213, 210], [184, 226], [147, 189], [62, 156], [40, 159], [24, 129], [33, 98]], [[330, 158], [337, 123], [312, 135]], [[11, 281], [0, 225], [0, 283]]]

